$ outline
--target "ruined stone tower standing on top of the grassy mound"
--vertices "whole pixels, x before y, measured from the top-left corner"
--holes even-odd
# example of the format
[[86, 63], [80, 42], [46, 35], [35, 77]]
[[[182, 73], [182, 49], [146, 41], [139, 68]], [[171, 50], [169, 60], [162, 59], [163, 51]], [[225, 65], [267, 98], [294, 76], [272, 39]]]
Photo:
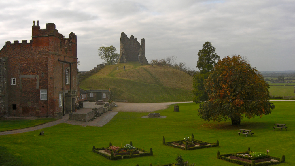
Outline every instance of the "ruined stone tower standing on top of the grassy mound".
[[[138, 54], [140, 54], [139, 58]], [[134, 38], [133, 35], [128, 38], [128, 36], [122, 32], [118, 64], [127, 63], [128, 61], [139, 61], [140, 63], [148, 64], [148, 60], [145, 57], [145, 39], [142, 38], [141, 44], [139, 44], [137, 38]]]

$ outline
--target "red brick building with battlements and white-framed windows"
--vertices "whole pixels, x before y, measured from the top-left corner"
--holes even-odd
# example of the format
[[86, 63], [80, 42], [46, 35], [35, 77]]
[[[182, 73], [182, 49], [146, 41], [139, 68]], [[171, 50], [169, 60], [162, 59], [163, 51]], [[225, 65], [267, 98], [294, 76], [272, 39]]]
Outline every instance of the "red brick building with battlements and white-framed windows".
[[34, 21], [32, 40], [6, 41], [1, 57], [6, 58], [3, 63], [7, 68], [6, 75], [0, 73], [7, 79], [0, 94], [2, 114], [61, 118], [76, 111], [78, 58], [77, 36], [73, 32], [65, 38], [54, 23], [41, 29], [39, 21], [37, 25]]

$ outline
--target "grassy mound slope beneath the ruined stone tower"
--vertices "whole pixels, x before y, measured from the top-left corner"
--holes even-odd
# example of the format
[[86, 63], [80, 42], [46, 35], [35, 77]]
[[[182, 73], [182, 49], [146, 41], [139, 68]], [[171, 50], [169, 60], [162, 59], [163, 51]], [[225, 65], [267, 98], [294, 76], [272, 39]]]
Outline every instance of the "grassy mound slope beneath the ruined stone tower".
[[171, 67], [133, 62], [106, 66], [81, 81], [80, 88], [111, 88], [114, 99], [125, 99], [128, 102], [176, 102], [192, 101], [192, 82], [193, 77]]

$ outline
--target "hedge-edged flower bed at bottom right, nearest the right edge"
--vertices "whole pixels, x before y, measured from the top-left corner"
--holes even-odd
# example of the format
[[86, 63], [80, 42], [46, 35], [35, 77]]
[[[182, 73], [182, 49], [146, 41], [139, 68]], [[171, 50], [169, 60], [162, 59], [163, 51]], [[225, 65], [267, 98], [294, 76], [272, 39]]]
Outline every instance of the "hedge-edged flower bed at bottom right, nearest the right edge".
[[245, 166], [251, 166], [252, 162], [254, 161], [256, 166], [274, 165], [285, 162], [278, 157], [271, 157], [262, 152], [255, 152], [250, 154], [249, 151], [235, 154], [222, 154], [220, 155], [219, 159]]

